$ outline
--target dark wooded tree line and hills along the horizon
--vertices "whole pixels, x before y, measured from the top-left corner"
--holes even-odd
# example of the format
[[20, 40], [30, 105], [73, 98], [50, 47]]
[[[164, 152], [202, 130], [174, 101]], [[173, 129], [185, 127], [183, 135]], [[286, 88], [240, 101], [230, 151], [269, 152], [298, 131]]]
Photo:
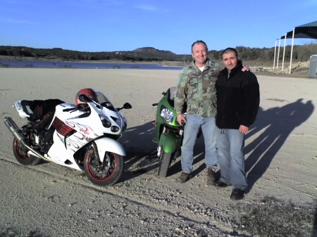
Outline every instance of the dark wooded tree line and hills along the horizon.
[[[242, 60], [273, 61], [273, 48], [249, 48], [237, 46], [235, 48]], [[283, 56], [284, 47], [280, 47], [280, 59]], [[216, 50], [208, 51], [211, 60], [221, 60], [221, 52]], [[292, 58], [296, 60], [309, 60], [309, 57], [317, 54], [317, 42], [311, 41], [309, 44], [295, 45]], [[285, 60], [290, 60], [291, 46], [285, 48]], [[32, 58], [59, 58], [61, 60], [125, 60], [125, 61], [175, 61], [189, 62], [192, 60], [190, 54], [181, 55], [170, 51], [159, 51], [154, 48], [141, 48], [135, 51], [116, 52], [82, 52], [66, 49], [33, 49], [24, 46], [0, 46], [0, 56], [32, 57]], [[276, 48], [276, 58], [278, 57], [278, 47]]]

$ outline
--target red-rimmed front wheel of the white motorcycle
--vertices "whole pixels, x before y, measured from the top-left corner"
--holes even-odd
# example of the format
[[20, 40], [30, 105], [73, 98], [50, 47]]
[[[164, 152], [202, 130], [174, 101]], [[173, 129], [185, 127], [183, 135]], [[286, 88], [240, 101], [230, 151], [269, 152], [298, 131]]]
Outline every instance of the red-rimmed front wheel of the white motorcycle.
[[104, 162], [97, 160], [91, 150], [86, 150], [84, 170], [88, 179], [98, 186], [116, 184], [123, 172], [123, 156], [106, 152]]

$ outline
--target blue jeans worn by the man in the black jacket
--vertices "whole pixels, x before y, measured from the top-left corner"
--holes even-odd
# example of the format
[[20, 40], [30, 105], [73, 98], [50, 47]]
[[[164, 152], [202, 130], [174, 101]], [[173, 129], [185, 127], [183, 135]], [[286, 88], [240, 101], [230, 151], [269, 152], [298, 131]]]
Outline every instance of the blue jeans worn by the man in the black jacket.
[[244, 134], [238, 129], [216, 128], [220, 181], [232, 184], [233, 188], [245, 190], [247, 179], [244, 173]]

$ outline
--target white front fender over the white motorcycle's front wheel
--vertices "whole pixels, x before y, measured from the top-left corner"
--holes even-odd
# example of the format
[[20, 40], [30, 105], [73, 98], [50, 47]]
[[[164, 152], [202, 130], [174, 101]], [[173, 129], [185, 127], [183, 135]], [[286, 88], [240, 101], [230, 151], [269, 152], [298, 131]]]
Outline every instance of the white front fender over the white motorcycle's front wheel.
[[106, 152], [116, 153], [118, 155], [125, 156], [125, 149], [121, 146], [118, 141], [104, 137], [102, 139], [94, 140], [97, 145], [99, 158], [101, 162], [104, 162], [104, 155]]

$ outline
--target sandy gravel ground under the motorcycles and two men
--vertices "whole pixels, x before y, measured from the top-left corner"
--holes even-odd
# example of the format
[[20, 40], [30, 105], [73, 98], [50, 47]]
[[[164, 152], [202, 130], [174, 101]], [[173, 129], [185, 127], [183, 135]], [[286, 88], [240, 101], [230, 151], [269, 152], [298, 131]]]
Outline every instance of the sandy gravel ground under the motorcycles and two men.
[[[0, 68], [1, 120], [10, 116], [20, 126], [25, 121], [12, 108], [19, 99], [74, 103], [77, 91], [92, 87], [116, 106], [132, 104], [131, 110], [123, 111], [129, 129], [120, 139], [127, 152], [125, 174], [108, 188], [93, 186], [85, 174], [53, 163], [18, 165], [13, 136], [1, 122], [0, 236], [267, 236], [278, 228], [284, 231], [281, 236], [292, 236], [292, 226], [302, 231], [297, 236], [314, 236], [317, 80], [258, 76], [261, 109], [245, 148], [248, 193], [244, 200], [232, 202], [230, 187], [205, 185], [202, 138], [195, 146], [193, 179], [182, 185], [175, 182], [180, 158], [169, 177], [156, 176], [151, 104], [175, 86], [178, 73]], [[287, 219], [292, 208], [299, 216]], [[279, 223], [276, 218], [286, 227], [273, 230]]]

